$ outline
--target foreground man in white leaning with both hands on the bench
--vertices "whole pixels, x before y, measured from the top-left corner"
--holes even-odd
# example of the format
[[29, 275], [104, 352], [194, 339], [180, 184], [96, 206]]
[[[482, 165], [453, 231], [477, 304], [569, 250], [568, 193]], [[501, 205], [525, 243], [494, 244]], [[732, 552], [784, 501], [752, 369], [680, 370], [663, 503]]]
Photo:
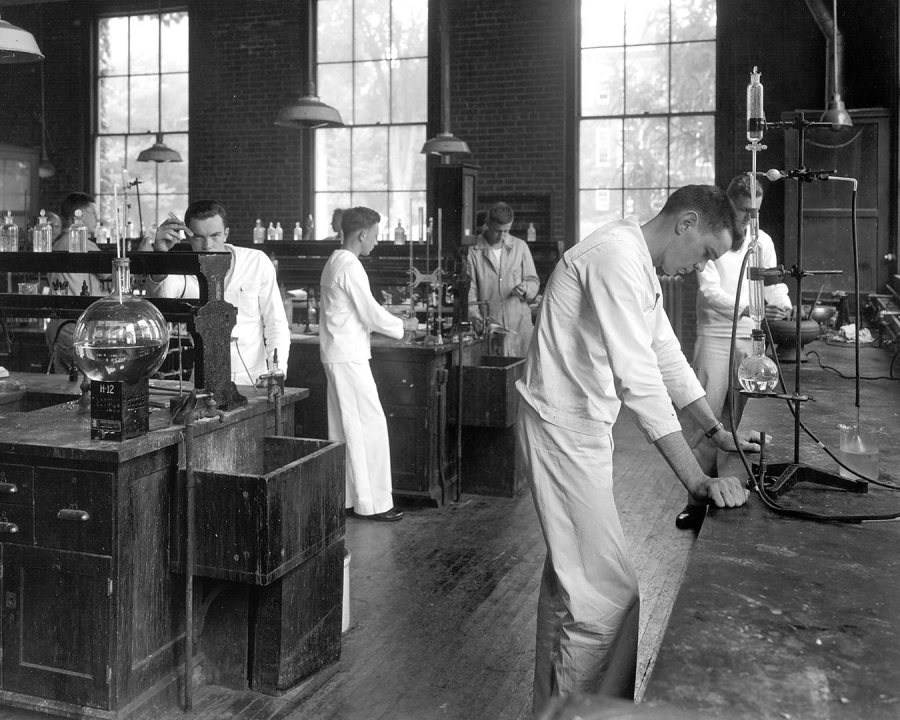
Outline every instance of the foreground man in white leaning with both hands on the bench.
[[547, 543], [536, 716], [554, 695], [634, 693], [638, 587], [612, 488], [621, 405], [698, 499], [719, 507], [747, 499], [738, 478], [705, 476], [681, 434], [673, 401], [733, 449], [681, 352], [655, 270], [702, 269], [738, 232], [724, 192], [687, 186], [645, 225], [612, 222], [570, 248], [547, 283], [517, 383], [518, 448]]

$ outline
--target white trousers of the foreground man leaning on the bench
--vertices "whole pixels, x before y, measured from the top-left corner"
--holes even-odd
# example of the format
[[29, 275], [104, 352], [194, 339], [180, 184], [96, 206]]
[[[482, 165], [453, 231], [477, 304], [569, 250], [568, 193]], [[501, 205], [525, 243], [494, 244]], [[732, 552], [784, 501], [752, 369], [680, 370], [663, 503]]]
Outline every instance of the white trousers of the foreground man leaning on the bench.
[[580, 435], [545, 423], [524, 401], [517, 432], [547, 543], [534, 714], [556, 695], [603, 691], [633, 697], [638, 585], [613, 499], [612, 436]]

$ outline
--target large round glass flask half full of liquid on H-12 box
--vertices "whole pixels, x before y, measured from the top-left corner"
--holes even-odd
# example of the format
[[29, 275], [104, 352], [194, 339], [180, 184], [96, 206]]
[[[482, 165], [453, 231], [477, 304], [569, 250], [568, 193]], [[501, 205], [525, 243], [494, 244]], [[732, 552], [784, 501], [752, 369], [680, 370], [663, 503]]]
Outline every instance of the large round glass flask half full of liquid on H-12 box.
[[75, 324], [75, 362], [91, 380], [135, 383], [162, 365], [169, 347], [165, 318], [130, 291], [128, 259], [113, 260], [113, 291]]

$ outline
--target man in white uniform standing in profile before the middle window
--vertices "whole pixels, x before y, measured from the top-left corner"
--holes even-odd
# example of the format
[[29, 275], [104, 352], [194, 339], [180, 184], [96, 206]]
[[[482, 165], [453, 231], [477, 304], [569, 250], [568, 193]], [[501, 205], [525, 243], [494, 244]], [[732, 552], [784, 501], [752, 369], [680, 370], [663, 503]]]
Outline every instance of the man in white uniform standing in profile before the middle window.
[[348, 514], [380, 522], [400, 520], [391, 496], [387, 421], [372, 377], [369, 334], [399, 340], [404, 326], [372, 296], [359, 261], [378, 243], [381, 216], [365, 207], [344, 210], [343, 240], [322, 270], [319, 290], [319, 352], [328, 379], [328, 439], [347, 444]]

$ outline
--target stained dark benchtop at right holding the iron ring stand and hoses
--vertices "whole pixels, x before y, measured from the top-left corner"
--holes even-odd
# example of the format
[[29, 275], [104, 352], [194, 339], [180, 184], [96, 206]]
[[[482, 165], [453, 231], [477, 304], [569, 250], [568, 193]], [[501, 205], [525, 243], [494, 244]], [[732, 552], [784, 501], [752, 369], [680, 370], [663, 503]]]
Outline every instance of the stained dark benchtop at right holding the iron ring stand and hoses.
[[[829, 448], [856, 419], [853, 348], [817, 341], [802, 363], [801, 418]], [[886, 376], [891, 354], [861, 349], [863, 376]], [[795, 365], [782, 369], [793, 391]], [[863, 423], [883, 426], [882, 480], [900, 478], [900, 384], [863, 380]], [[775, 438], [768, 462], [793, 461], [783, 401], [751, 399], [743, 427]], [[802, 431], [801, 431], [802, 432]], [[837, 465], [805, 437], [801, 463]], [[737, 472], [737, 469], [734, 470]], [[900, 492], [855, 494], [806, 482], [784, 506], [834, 514], [900, 512]], [[710, 510], [692, 551], [644, 700], [704, 718], [896, 718], [900, 714], [900, 523], [838, 524], [778, 515], [751, 495]]]

